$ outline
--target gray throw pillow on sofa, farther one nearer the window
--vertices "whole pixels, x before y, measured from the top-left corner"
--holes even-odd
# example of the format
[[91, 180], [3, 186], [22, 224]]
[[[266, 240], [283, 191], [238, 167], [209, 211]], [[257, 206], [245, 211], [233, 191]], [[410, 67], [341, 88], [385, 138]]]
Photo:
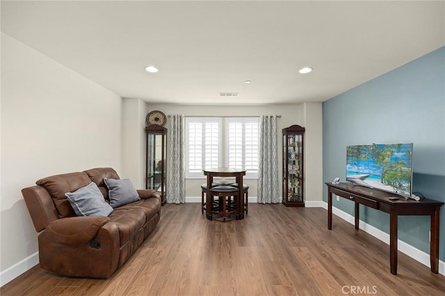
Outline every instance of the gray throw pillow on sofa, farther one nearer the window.
[[129, 179], [104, 178], [104, 182], [106, 187], [108, 187], [110, 206], [113, 208], [140, 200], [138, 192], [134, 189], [134, 186]]

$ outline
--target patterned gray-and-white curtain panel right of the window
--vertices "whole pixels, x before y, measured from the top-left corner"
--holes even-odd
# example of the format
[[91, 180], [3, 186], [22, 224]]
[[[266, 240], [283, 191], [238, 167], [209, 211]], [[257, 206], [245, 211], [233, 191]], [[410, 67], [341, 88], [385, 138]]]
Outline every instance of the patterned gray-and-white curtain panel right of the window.
[[257, 199], [259, 204], [277, 204], [280, 202], [277, 146], [277, 116], [261, 115], [261, 117], [259, 117]]

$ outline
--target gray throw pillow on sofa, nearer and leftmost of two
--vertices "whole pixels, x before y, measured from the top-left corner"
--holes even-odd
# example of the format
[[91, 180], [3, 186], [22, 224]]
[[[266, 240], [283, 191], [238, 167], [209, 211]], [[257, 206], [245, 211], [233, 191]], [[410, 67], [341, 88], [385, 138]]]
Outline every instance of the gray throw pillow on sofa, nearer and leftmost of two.
[[65, 196], [78, 216], [108, 216], [113, 212], [94, 182], [74, 192], [67, 192]]

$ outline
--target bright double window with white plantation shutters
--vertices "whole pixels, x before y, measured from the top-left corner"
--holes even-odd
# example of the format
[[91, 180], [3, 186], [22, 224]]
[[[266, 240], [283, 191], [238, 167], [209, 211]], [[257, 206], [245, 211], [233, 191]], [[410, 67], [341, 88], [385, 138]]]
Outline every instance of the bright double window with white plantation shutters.
[[186, 117], [186, 178], [203, 178], [204, 167], [243, 167], [257, 178], [258, 140], [258, 117]]

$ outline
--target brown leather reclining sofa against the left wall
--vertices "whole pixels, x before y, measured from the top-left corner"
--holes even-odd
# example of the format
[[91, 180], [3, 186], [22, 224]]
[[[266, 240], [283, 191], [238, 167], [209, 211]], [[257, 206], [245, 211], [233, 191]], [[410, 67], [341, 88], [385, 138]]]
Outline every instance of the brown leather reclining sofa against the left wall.
[[24, 188], [22, 195], [38, 236], [40, 267], [74, 277], [108, 278], [155, 229], [161, 197], [137, 190], [140, 200], [106, 216], [77, 216], [65, 193], [94, 182], [109, 203], [104, 178], [119, 179], [110, 167], [49, 176]]

